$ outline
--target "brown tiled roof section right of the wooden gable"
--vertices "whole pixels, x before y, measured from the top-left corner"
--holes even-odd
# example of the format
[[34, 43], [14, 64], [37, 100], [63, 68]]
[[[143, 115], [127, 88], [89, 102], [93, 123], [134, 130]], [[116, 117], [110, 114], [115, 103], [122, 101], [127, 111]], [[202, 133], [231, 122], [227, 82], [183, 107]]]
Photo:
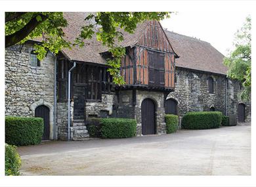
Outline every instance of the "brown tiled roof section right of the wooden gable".
[[226, 75], [224, 55], [210, 43], [165, 30], [173, 49], [180, 56], [176, 66]]

